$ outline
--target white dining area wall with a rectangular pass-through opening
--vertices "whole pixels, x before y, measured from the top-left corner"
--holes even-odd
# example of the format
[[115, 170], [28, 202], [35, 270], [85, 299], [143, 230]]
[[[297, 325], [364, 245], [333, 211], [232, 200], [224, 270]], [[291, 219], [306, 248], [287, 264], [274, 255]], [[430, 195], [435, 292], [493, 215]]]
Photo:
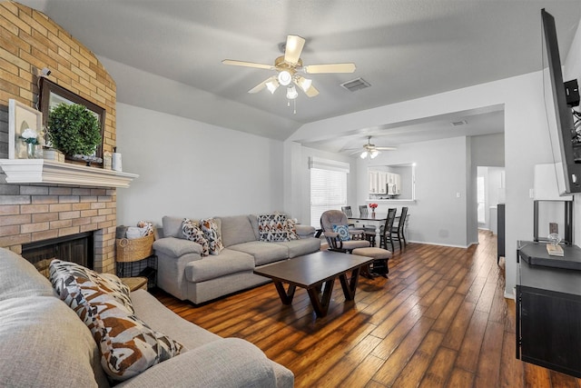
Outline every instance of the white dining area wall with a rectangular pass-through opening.
[[[416, 164], [416, 201], [373, 201], [378, 213], [409, 207], [407, 238], [411, 242], [465, 247], [466, 138], [403, 144], [372, 161], [358, 161], [358, 204], [368, 201], [369, 165]], [[459, 194], [459, 197], [457, 196]]]

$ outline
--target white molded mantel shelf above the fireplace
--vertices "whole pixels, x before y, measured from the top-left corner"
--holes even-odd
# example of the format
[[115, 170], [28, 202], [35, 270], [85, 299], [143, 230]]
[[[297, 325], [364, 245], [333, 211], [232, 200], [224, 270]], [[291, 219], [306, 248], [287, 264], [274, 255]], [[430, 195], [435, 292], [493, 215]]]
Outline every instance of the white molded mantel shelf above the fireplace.
[[138, 174], [46, 159], [0, 159], [8, 184], [129, 187]]

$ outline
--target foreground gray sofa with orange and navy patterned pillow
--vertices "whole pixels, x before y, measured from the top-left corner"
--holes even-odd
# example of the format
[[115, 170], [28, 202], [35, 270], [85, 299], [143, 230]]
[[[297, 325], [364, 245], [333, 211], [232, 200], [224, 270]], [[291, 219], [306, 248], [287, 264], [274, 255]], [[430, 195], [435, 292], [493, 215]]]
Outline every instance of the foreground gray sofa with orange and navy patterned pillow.
[[[186, 352], [120, 387], [292, 387], [294, 376], [256, 346], [183, 320], [150, 293], [131, 293], [135, 315]], [[94, 338], [25, 259], [0, 248], [0, 386], [109, 386]]]

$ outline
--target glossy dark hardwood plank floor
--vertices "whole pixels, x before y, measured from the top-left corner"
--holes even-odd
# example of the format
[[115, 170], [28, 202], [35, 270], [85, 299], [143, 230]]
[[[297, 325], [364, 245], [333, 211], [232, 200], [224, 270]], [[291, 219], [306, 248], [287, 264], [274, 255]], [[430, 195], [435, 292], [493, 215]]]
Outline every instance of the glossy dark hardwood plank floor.
[[297, 387], [576, 387], [581, 379], [515, 357], [515, 303], [504, 298], [497, 239], [468, 249], [409, 244], [389, 279], [360, 279], [345, 303], [335, 284], [315, 318], [305, 290], [283, 306], [273, 284], [195, 306], [154, 294], [175, 313], [254, 343], [295, 374]]

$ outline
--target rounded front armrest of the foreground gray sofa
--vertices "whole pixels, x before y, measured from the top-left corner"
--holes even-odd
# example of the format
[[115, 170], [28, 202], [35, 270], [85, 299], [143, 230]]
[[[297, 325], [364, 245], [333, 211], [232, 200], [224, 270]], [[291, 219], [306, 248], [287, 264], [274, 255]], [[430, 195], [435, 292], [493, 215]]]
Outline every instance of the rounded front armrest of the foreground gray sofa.
[[120, 383], [118, 387], [274, 387], [271, 360], [239, 338], [206, 343]]

